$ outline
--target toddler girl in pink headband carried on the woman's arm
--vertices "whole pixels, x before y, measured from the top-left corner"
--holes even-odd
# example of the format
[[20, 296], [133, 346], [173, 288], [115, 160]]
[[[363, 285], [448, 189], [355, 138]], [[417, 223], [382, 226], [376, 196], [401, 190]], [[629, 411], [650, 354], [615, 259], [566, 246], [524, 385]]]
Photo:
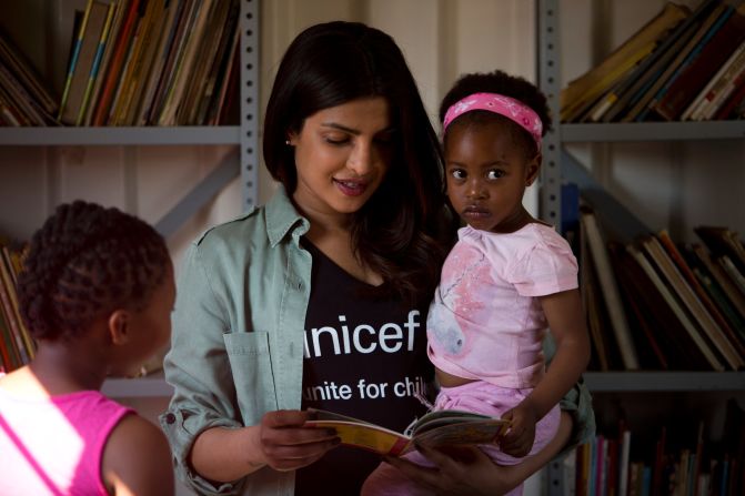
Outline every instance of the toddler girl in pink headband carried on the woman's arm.
[[[558, 402], [590, 358], [576, 260], [522, 203], [537, 179], [551, 120], [540, 90], [502, 71], [461, 78], [440, 117], [447, 198], [467, 225], [427, 315], [427, 353], [441, 386], [434, 408], [510, 419], [503, 438], [480, 448], [499, 465], [516, 465], [554, 437]], [[546, 368], [548, 330], [556, 354]], [[426, 453], [422, 446], [409, 460], [381, 464], [363, 494], [430, 494], [405, 476], [410, 463], [434, 465]]]

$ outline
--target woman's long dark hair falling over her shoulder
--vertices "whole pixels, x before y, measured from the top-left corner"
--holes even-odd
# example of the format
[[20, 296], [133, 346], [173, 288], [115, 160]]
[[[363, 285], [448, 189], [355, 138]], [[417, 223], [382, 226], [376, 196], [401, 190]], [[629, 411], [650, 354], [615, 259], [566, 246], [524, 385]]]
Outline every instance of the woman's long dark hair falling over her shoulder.
[[272, 176], [292, 194], [294, 150], [285, 144], [306, 118], [349, 101], [383, 97], [397, 130], [385, 179], [354, 215], [356, 255], [389, 289], [415, 304], [432, 298], [446, 246], [439, 233], [442, 152], [414, 78], [393, 39], [359, 22], [334, 21], [301, 32], [285, 52], [266, 108], [263, 153]]

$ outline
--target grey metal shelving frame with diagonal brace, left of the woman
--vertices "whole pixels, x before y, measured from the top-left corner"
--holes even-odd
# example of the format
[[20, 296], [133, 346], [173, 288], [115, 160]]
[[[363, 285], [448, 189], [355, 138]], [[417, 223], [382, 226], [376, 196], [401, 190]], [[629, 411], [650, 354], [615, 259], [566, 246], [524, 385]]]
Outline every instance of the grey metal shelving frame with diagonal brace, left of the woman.
[[[32, 3], [32, 4], [31, 4]], [[84, 4], [84, 2], [82, 3]], [[44, 29], [56, 26], [61, 4], [57, 0], [30, 2], [29, 9], [20, 11], [10, 8], [10, 13], [19, 16], [41, 16], [43, 22], [36, 26]], [[72, 2], [67, 7], [72, 8]], [[75, 7], [80, 7], [75, 3]], [[191, 191], [167, 212], [155, 227], [167, 239], [199, 209], [211, 201], [225, 185], [240, 176], [241, 209], [248, 210], [259, 199], [259, 41], [260, 0], [239, 0], [239, 125], [190, 125], [190, 126], [49, 126], [8, 128], [0, 126], [0, 158], [3, 150], [17, 146], [53, 149], [58, 146], [125, 146], [149, 145], [231, 145], [234, 152], [200, 181]], [[69, 34], [69, 33], [68, 33]], [[40, 37], [40, 39], [46, 39]], [[67, 59], [67, 53], [57, 53], [64, 48], [58, 40], [47, 40], [48, 57]], [[3, 181], [9, 174], [3, 174]], [[12, 181], [12, 178], [10, 178]], [[103, 391], [114, 397], [170, 397], [171, 388], [162, 374], [133, 379], [109, 379]]]

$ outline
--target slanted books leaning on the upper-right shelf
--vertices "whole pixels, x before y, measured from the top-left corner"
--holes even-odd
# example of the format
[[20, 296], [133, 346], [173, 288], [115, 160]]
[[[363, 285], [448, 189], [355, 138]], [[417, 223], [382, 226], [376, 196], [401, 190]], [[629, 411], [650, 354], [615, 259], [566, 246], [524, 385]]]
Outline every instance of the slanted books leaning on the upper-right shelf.
[[561, 93], [562, 122], [745, 117], [745, 4], [668, 2]]

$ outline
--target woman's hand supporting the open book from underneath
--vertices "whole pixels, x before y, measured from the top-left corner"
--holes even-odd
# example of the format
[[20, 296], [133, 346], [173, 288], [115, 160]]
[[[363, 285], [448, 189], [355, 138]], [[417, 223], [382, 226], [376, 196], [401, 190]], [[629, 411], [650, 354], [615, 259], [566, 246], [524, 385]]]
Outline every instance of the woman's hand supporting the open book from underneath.
[[494, 496], [505, 494], [522, 483], [513, 467], [495, 465], [475, 446], [447, 451], [417, 446], [417, 449], [435, 466], [423, 467], [405, 458], [393, 457], [386, 457], [385, 462], [437, 495]]

